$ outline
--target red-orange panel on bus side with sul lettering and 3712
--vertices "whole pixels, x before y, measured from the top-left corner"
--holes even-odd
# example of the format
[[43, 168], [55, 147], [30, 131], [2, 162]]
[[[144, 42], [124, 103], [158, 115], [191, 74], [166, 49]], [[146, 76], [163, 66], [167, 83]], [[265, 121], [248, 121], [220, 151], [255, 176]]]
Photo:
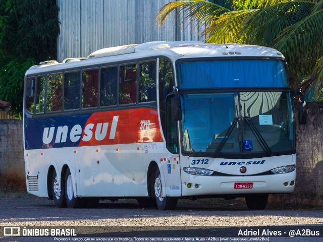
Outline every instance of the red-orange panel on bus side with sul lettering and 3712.
[[87, 120], [79, 146], [163, 141], [157, 111], [135, 108], [93, 113]]

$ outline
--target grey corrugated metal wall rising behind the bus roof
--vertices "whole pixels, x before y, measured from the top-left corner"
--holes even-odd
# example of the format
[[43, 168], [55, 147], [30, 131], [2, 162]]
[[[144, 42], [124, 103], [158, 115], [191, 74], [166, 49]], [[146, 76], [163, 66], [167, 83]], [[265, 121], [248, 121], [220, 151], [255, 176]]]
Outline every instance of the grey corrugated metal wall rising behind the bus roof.
[[[57, 61], [87, 57], [112, 46], [148, 41], [203, 40], [204, 26], [182, 23], [182, 13], [172, 13], [158, 27], [158, 11], [172, 0], [58, 0], [60, 35]], [[45, 61], [45, 60], [44, 60]]]

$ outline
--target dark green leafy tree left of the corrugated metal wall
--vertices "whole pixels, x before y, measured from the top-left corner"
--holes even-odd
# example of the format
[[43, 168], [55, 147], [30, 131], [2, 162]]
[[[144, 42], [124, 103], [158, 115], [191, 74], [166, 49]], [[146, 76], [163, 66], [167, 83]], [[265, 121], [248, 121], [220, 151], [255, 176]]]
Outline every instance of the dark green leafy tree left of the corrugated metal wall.
[[56, 0], [0, 1], [0, 99], [9, 101], [18, 116], [25, 72], [56, 58], [58, 12]]

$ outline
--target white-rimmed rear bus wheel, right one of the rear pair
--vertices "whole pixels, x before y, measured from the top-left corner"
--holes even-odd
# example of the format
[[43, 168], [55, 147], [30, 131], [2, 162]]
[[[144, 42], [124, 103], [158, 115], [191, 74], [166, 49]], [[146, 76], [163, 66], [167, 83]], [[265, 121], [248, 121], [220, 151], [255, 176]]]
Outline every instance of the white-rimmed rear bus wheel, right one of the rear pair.
[[65, 173], [65, 198], [66, 204], [69, 208], [83, 208], [84, 207], [84, 199], [77, 198], [74, 196], [73, 190], [73, 181], [71, 171], [68, 168]]

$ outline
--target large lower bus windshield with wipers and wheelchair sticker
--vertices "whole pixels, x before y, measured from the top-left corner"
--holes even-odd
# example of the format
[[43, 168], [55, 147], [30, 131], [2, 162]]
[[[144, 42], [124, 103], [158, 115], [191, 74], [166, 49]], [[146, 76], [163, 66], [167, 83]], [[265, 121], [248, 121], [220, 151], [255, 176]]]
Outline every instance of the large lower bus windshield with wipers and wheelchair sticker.
[[184, 93], [181, 103], [184, 153], [224, 157], [295, 151], [289, 91]]

